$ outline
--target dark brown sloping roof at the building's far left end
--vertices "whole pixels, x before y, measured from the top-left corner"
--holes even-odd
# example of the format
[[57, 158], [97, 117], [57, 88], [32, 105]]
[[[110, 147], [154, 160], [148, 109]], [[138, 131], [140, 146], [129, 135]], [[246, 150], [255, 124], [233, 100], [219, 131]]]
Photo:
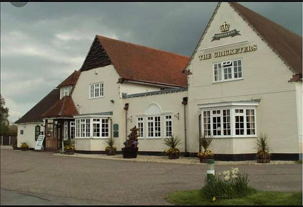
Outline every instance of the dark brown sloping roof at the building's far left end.
[[60, 99], [60, 89], [54, 89], [15, 123], [40, 122], [40, 115]]

